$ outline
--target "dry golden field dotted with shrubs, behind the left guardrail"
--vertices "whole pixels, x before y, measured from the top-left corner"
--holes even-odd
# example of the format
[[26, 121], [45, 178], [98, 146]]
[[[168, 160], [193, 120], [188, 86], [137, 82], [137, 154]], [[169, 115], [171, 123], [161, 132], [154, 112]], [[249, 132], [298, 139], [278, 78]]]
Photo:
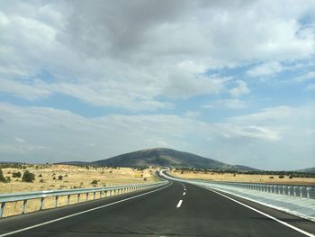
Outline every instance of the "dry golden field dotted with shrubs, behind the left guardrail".
[[[20, 171], [23, 174], [26, 169], [35, 174], [35, 180], [32, 183], [22, 182], [22, 178], [13, 178], [14, 172]], [[157, 181], [157, 178], [153, 175], [155, 169], [145, 169], [142, 172], [130, 168], [86, 169], [85, 167], [68, 165], [31, 165], [26, 166], [26, 169], [2, 169], [4, 177], [10, 177], [11, 182], [0, 183], [0, 195], [4, 193], [14, 192], [29, 192], [37, 190], [65, 189], [75, 187], [109, 187], [115, 185], [139, 184]], [[62, 180], [58, 180], [59, 176], [62, 176]], [[97, 184], [91, 184], [94, 180], [97, 181]], [[96, 194], [95, 197], [99, 198], [99, 194]], [[86, 197], [82, 195], [80, 198], [80, 202], [84, 202], [85, 198]], [[92, 198], [92, 195], [90, 196], [90, 198]], [[75, 203], [77, 203], [77, 196], [71, 196], [70, 204]], [[54, 197], [47, 197], [44, 200], [44, 209], [52, 208], [54, 204]], [[67, 196], [59, 197], [58, 206], [61, 205], [67, 205]], [[39, 209], [39, 199], [28, 201], [27, 213], [34, 212]], [[21, 214], [22, 211], [22, 202], [7, 203], [4, 208], [3, 216]]]

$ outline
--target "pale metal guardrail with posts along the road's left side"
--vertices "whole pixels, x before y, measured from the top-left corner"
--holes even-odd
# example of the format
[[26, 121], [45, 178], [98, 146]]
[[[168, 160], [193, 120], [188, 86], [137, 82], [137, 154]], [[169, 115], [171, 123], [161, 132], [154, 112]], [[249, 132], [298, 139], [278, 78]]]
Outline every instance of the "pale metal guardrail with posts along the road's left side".
[[150, 184], [132, 184], [123, 186], [112, 186], [112, 187], [87, 187], [87, 188], [74, 188], [74, 189], [58, 189], [58, 190], [45, 190], [45, 191], [33, 191], [33, 192], [21, 192], [13, 194], [1, 194], [0, 195], [0, 218], [4, 214], [4, 207], [6, 203], [23, 201], [22, 214], [26, 214], [27, 201], [31, 199], [40, 199], [40, 210], [43, 209], [45, 197], [55, 196], [55, 208], [58, 207], [58, 197], [67, 196], [67, 205], [70, 204], [70, 196], [77, 196], [77, 203], [80, 202], [80, 196], [85, 195], [85, 201], [89, 200], [89, 194], [99, 193], [100, 198], [106, 196], [120, 195], [124, 193], [130, 193], [139, 189], [148, 187], [160, 187], [168, 183], [168, 181], [161, 181]]

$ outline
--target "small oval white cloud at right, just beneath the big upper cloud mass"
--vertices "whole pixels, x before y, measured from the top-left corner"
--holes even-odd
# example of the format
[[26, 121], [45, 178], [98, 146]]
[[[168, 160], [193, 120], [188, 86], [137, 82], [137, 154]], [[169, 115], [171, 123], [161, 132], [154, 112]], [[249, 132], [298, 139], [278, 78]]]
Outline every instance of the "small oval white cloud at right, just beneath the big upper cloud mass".
[[283, 70], [282, 65], [279, 62], [266, 62], [251, 68], [247, 71], [249, 77], [267, 77], [274, 76], [276, 73]]

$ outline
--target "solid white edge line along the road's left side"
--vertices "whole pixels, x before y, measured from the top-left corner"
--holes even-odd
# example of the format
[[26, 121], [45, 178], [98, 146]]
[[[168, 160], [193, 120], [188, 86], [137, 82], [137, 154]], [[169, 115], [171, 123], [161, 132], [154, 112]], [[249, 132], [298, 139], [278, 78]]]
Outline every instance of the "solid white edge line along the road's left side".
[[125, 201], [128, 201], [128, 200], [137, 198], [137, 197], [139, 197], [139, 196], [145, 196], [145, 195], [148, 195], [148, 194], [157, 192], [157, 191], [159, 191], [159, 190], [162, 190], [162, 189], [164, 189], [164, 188], [166, 188], [166, 187], [169, 187], [169, 186], [171, 186], [172, 184], [173, 184], [173, 182], [170, 182], [170, 183], [169, 183], [168, 185], [166, 185], [165, 187], [160, 187], [160, 188], [158, 188], [158, 189], [155, 189], [155, 190], [152, 190], [152, 191], [149, 191], [149, 192], [147, 192], [147, 193], [140, 194], [140, 195], [137, 195], [137, 196], [130, 196], [130, 197], [128, 197], [128, 198], [125, 198], [125, 199], [122, 199], [122, 200], [113, 202], [113, 203], [111, 203], [111, 204], [100, 205], [100, 206], [97, 206], [97, 207], [94, 207], [94, 208], [91, 208], [91, 209], [88, 209], [88, 210], [85, 210], [85, 211], [82, 211], [82, 212], [78, 212], [78, 213], [76, 213], [76, 214], [68, 214], [68, 215], [66, 215], [66, 216], [59, 217], [59, 218], [57, 218], [57, 219], [54, 219], [54, 220], [51, 220], [51, 221], [48, 221], [48, 222], [34, 224], [34, 225], [29, 226], [29, 227], [25, 227], [25, 228], [22, 228], [22, 229], [13, 231], [13, 232], [4, 232], [4, 233], [0, 234], [0, 237], [12, 235], [12, 234], [17, 233], [17, 232], [25, 232], [25, 231], [28, 231], [28, 230], [31, 230], [31, 229], [40, 227], [40, 226], [42, 226], [42, 225], [46, 225], [46, 224], [49, 224], [49, 223], [56, 223], [56, 222], [58, 222], [58, 221], [61, 221], [61, 220], [64, 220], [64, 219], [67, 219], [67, 218], [70, 218], [70, 217], [73, 217], [73, 216], [76, 216], [76, 215], [79, 215], [79, 214], [85, 214], [85, 213], [93, 212], [93, 211], [95, 211], [95, 210], [102, 209], [102, 208], [104, 208], [104, 207], [106, 207], [106, 206], [109, 206], [109, 205], [115, 205], [115, 204], [119, 204], [119, 203], [122, 203], [122, 202], [125, 202]]

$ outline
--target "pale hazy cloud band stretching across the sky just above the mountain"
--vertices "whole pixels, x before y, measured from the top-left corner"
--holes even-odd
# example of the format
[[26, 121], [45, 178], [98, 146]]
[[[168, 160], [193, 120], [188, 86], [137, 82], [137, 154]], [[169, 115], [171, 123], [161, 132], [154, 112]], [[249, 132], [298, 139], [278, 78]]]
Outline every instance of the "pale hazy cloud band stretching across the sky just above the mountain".
[[[209, 123], [175, 114], [85, 118], [57, 109], [0, 103], [4, 121], [0, 154], [24, 162], [102, 160], [167, 146], [209, 158], [220, 153], [221, 161], [261, 169], [298, 169], [314, 165], [313, 111], [313, 107], [282, 106]], [[8, 141], [10, 134], [19, 134], [27, 143]], [[262, 159], [252, 162], [253, 153]]]

